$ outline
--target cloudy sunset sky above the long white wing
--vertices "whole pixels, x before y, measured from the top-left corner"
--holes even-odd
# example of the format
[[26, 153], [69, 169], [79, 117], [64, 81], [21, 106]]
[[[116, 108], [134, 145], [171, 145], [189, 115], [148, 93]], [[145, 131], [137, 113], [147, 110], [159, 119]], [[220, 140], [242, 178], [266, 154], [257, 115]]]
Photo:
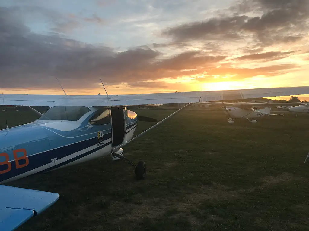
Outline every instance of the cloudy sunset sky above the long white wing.
[[[309, 86], [308, 0], [0, 0], [4, 94]], [[308, 92], [309, 93], [309, 92]]]

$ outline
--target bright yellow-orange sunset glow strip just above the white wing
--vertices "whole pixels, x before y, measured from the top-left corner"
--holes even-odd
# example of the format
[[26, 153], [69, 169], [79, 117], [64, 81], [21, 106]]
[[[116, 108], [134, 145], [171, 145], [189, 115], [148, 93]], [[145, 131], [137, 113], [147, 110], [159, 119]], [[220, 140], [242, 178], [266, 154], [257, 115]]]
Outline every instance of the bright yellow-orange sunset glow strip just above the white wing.
[[[268, 77], [256, 75], [251, 78], [239, 79], [238, 75], [188, 75], [177, 78], [160, 78], [156, 80], [137, 81], [136, 85], [129, 83], [104, 84], [109, 95], [131, 95], [146, 93], [185, 92], [185, 91], [223, 91], [252, 88], [270, 87], [296, 87], [308, 86], [309, 81], [305, 72], [298, 72], [298, 80], [295, 81], [295, 73]], [[63, 81], [65, 82], [65, 81]], [[146, 83], [146, 84], [145, 84]], [[149, 84], [148, 84], [149, 83]], [[140, 84], [140, 85], [139, 85]], [[73, 89], [70, 83], [64, 83], [63, 87], [67, 95], [104, 95], [105, 91], [101, 83], [94, 84], [93, 88], [85, 87]], [[2, 93], [2, 92], [0, 92]], [[29, 88], [3, 88], [4, 94], [34, 94], [34, 95], [64, 95], [61, 87], [55, 89], [29, 89]], [[309, 92], [308, 92], [309, 93]], [[302, 100], [308, 100], [309, 96], [302, 96]], [[280, 99], [287, 99], [281, 97]]]

